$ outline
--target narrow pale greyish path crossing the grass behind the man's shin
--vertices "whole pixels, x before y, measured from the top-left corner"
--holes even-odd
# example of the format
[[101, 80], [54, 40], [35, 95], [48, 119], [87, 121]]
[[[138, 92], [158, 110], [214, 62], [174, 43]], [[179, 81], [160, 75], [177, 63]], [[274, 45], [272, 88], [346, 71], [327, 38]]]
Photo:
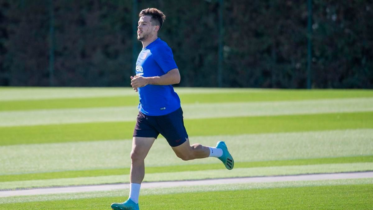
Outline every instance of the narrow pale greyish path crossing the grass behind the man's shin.
[[[141, 189], [171, 188], [171, 187], [192, 186], [192, 185], [217, 185], [217, 184], [237, 184], [237, 183], [360, 179], [360, 178], [373, 178], [373, 172], [241, 177], [241, 178], [204, 179], [204, 180], [172, 181], [172, 182], [143, 182], [141, 184]], [[37, 188], [37, 189], [0, 191], [0, 197], [10, 197], [10, 196], [19, 196], [19, 195], [45, 195], [45, 194], [75, 193], [75, 192], [109, 191], [109, 190], [116, 190], [116, 189], [129, 189], [129, 184], [126, 183], [126, 184], [106, 184], [106, 185], [89, 185], [89, 186], [69, 186], [69, 187], [56, 187], [56, 188]]]

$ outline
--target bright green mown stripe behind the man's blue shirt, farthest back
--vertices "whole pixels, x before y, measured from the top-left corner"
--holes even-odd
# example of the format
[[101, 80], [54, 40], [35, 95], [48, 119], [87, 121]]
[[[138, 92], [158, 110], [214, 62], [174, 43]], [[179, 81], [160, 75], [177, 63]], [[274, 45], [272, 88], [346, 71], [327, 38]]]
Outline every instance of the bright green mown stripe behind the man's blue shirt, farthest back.
[[[305, 99], [335, 99], [373, 97], [370, 90], [265, 90], [259, 92], [200, 93], [180, 94], [182, 104], [254, 102], [254, 101], [291, 101]], [[105, 106], [136, 106], [138, 96], [114, 96], [95, 98], [42, 99], [21, 101], [0, 101], [0, 111], [92, 108]]]

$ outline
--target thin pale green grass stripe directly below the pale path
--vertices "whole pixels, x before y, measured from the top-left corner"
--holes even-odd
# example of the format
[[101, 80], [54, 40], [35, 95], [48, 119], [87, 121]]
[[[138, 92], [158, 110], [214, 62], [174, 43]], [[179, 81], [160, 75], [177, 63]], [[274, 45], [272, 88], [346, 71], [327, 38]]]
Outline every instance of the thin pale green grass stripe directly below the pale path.
[[[220, 184], [214, 186], [183, 186], [176, 188], [155, 188], [141, 189], [141, 196], [145, 195], [165, 195], [193, 192], [211, 192], [211, 191], [237, 191], [250, 189], [273, 189], [273, 188], [299, 188], [305, 186], [336, 186], [336, 185], [372, 185], [373, 178], [366, 179], [340, 179], [340, 180], [317, 180], [317, 181], [294, 181], [294, 182], [263, 182], [263, 183], [244, 183], [244, 184]], [[0, 204], [6, 203], [26, 203], [35, 201], [54, 201], [54, 200], [78, 200], [87, 198], [101, 197], [128, 197], [128, 189], [115, 191], [98, 192], [80, 192], [69, 194], [50, 194], [50, 195], [28, 195], [0, 198]], [[143, 197], [142, 197], [143, 198]], [[77, 202], [77, 201], [76, 201]], [[113, 201], [112, 201], [113, 202]], [[42, 204], [40, 204], [42, 206]], [[0, 206], [4, 207], [4, 206]]]

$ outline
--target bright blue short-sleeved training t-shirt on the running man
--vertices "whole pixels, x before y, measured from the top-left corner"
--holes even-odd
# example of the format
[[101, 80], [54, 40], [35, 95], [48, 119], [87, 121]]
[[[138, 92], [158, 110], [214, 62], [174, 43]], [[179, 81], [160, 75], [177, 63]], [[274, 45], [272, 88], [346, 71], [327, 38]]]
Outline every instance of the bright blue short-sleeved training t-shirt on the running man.
[[[136, 75], [143, 77], [162, 76], [178, 68], [172, 50], [166, 42], [157, 38], [143, 48], [136, 61]], [[180, 108], [180, 99], [172, 85], [151, 85], [138, 88], [139, 111], [145, 115], [169, 114]]]

